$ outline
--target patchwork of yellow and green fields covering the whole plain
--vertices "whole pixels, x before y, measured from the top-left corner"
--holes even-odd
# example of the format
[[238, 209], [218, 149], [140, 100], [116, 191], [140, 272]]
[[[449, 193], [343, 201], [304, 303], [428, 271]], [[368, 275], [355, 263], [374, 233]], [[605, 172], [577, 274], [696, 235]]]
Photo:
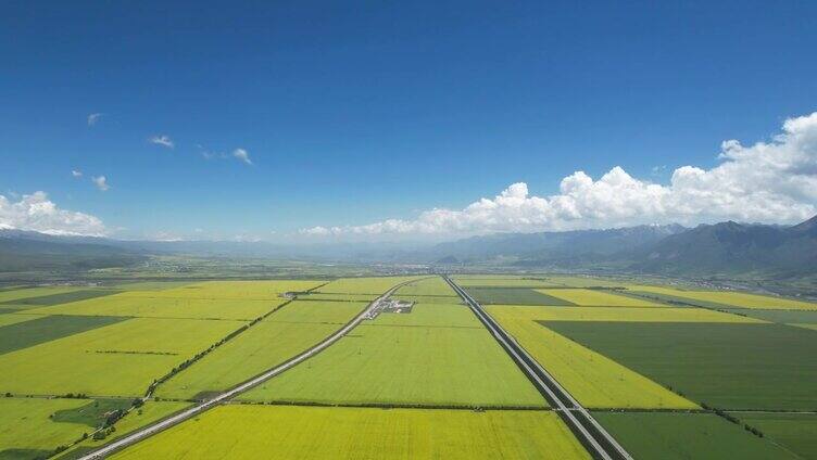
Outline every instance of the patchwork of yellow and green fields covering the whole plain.
[[[815, 311], [678, 306], [588, 289], [623, 285], [598, 278], [458, 278], [636, 458], [814, 455], [814, 416], [785, 411], [817, 406]], [[442, 278], [401, 276], [0, 291], [0, 368], [13, 370], [0, 375], [0, 459], [92, 451], [306, 352], [400, 283], [392, 298], [407, 304], [114, 457], [590, 458]], [[665, 298], [639, 296], [653, 294]], [[149, 387], [115, 431], [81, 439]]]

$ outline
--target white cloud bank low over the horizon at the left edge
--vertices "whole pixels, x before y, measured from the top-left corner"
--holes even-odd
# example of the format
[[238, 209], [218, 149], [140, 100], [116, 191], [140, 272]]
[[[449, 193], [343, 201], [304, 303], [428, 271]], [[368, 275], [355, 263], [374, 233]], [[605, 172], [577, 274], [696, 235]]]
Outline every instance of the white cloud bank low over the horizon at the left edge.
[[89, 214], [60, 209], [46, 192], [23, 195], [17, 202], [0, 195], [0, 228], [89, 237], [108, 233], [102, 220]]

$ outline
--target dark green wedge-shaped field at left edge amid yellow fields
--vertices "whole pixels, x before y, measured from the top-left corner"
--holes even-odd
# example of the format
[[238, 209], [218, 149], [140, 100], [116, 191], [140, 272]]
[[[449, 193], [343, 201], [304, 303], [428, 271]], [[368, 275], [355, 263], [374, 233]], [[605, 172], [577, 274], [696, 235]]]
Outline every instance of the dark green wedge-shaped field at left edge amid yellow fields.
[[0, 355], [124, 321], [123, 317], [43, 316], [0, 327]]

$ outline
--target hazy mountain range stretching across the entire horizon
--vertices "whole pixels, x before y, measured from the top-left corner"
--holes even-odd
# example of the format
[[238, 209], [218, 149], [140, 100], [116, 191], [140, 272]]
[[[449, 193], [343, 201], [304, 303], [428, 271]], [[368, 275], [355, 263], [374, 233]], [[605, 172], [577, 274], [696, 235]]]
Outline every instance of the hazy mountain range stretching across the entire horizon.
[[267, 257], [316, 261], [504, 266], [671, 276], [817, 274], [817, 216], [784, 227], [727, 221], [684, 228], [498, 233], [438, 244], [120, 241], [0, 229], [0, 271], [127, 266], [151, 255]]

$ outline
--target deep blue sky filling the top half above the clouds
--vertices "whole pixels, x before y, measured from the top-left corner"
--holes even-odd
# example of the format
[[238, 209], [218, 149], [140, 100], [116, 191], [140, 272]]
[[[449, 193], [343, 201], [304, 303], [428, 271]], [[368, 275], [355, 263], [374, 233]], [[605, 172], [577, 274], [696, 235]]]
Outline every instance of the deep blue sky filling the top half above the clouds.
[[[516, 182], [560, 194], [577, 170], [620, 166], [667, 186], [678, 167], [721, 164], [724, 140], [774, 142], [817, 110], [809, 2], [165, 3], [3, 2], [8, 203], [42, 191], [120, 238], [366, 233], [353, 229], [463, 209]], [[814, 210], [810, 179], [774, 203], [805, 206], [780, 220]], [[485, 228], [458, 216], [441, 233], [767, 221], [775, 209]]]

